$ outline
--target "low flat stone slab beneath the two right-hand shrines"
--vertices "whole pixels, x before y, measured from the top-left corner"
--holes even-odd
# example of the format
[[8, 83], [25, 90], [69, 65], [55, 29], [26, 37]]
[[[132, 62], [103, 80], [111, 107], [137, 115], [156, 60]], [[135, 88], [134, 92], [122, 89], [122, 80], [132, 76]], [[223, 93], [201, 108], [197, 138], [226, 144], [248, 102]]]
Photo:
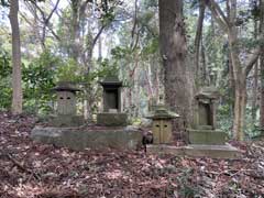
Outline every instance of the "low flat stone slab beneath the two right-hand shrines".
[[194, 157], [211, 157], [211, 158], [240, 158], [241, 152], [231, 146], [226, 145], [200, 145], [190, 144], [187, 146], [169, 146], [169, 145], [147, 145], [146, 152], [152, 154], [173, 154], [179, 156], [194, 156]]

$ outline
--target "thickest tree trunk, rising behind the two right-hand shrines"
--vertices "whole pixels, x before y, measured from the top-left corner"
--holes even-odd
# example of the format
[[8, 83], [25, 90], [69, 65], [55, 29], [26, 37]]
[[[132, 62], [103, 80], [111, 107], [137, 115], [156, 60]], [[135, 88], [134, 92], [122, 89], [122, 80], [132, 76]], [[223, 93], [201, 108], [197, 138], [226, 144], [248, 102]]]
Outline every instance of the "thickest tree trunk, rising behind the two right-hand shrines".
[[160, 46], [164, 66], [165, 102], [180, 114], [174, 131], [184, 131], [188, 123], [190, 100], [187, 87], [186, 32], [183, 0], [160, 0]]

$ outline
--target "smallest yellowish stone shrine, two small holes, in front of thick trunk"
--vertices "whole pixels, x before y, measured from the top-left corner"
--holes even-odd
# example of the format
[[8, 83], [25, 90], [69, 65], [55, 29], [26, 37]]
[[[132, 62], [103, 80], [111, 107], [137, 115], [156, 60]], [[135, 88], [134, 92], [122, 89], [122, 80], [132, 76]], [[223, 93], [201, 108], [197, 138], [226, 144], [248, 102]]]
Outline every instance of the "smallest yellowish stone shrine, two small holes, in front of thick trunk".
[[163, 105], [156, 106], [154, 112], [146, 117], [152, 119], [152, 132], [154, 144], [166, 144], [173, 141], [172, 120], [179, 116], [168, 111]]

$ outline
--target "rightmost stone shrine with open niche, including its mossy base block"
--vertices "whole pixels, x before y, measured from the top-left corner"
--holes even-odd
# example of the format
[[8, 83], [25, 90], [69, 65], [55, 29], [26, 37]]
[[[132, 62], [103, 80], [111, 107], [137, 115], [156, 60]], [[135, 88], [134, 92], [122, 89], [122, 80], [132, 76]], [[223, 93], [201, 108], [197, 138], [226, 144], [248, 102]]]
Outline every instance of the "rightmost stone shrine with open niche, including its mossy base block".
[[188, 129], [191, 144], [224, 144], [227, 135], [217, 130], [216, 101], [219, 92], [213, 87], [204, 87], [195, 96], [194, 129]]

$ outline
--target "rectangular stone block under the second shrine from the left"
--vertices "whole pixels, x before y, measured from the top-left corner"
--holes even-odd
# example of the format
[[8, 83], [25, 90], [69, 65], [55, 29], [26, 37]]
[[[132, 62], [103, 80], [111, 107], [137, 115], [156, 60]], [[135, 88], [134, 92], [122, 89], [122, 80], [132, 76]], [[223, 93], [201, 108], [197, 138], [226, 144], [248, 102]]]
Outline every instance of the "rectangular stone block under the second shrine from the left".
[[112, 113], [103, 112], [97, 114], [97, 123], [99, 125], [127, 125], [128, 124], [128, 114], [127, 113]]

